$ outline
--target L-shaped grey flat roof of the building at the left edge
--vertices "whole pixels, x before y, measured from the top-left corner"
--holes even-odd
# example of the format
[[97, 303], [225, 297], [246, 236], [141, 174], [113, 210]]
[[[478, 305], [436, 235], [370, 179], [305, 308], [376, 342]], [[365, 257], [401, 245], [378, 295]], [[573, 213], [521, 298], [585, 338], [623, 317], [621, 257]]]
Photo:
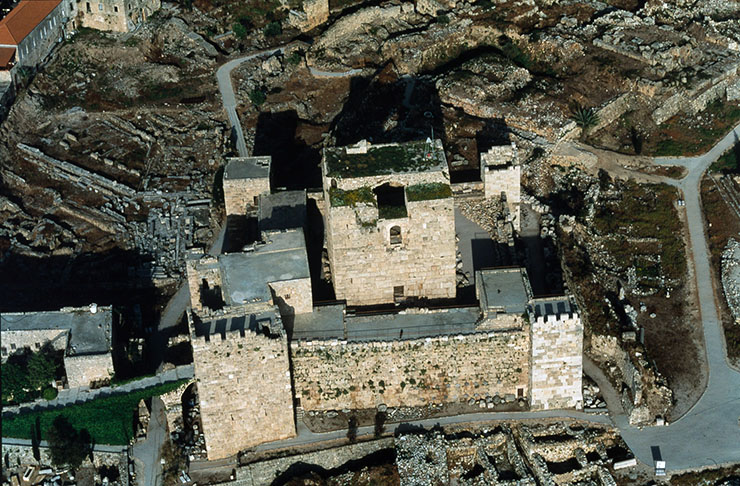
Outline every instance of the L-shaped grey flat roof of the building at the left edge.
[[113, 310], [89, 307], [59, 311], [0, 314], [0, 329], [5, 331], [69, 330], [67, 355], [101, 354], [110, 351]]

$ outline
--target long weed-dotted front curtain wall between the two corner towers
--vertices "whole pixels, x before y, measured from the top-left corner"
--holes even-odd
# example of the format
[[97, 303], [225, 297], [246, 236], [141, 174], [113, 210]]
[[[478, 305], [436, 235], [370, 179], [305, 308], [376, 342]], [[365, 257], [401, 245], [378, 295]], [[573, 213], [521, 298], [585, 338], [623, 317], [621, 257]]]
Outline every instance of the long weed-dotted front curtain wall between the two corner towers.
[[528, 396], [529, 328], [370, 343], [291, 343], [305, 410]]

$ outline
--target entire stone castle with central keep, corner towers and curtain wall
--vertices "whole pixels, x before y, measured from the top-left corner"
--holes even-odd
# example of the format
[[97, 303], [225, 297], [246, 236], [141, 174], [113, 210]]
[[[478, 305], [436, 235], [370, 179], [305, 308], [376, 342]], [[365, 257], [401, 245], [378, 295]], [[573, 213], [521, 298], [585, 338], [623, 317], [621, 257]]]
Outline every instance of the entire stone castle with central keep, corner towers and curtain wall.
[[[331, 303], [313, 298], [306, 192], [271, 194], [269, 167], [242, 157], [224, 171], [227, 216], [255, 219], [259, 239], [187, 262], [209, 459], [293, 437], [304, 413], [581, 408], [582, 326], [569, 298], [535, 298], [523, 268], [484, 268], [479, 305], [450, 306], [457, 244], [440, 141], [325, 151], [323, 194], [311, 197], [341, 299]], [[518, 204], [515, 184], [491, 183]], [[364, 310], [377, 305], [386, 310]]]

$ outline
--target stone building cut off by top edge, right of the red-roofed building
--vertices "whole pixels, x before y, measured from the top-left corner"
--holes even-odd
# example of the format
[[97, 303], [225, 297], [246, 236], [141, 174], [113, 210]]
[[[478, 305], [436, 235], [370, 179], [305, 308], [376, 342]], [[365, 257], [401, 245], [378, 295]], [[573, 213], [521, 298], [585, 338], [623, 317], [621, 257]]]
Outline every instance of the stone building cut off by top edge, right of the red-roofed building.
[[71, 29], [129, 32], [162, 6], [161, 0], [80, 0], [69, 2]]

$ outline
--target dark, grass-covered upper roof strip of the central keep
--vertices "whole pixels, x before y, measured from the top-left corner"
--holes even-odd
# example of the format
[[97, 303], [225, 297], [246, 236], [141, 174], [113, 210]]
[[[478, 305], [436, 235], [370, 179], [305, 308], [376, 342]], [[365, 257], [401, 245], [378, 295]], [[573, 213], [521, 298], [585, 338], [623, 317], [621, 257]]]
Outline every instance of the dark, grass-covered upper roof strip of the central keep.
[[447, 169], [441, 140], [370, 144], [324, 149], [329, 177], [369, 177]]

